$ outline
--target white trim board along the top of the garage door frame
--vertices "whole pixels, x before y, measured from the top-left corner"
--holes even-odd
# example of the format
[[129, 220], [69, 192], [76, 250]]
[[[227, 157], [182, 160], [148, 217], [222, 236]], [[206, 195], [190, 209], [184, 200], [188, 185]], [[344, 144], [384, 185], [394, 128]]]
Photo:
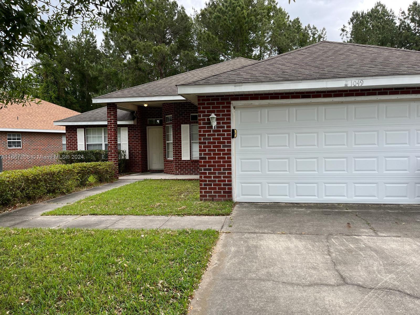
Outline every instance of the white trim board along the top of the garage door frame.
[[251, 100], [232, 101], [232, 106], [260, 106], [260, 105], [286, 105], [286, 104], [318, 104], [318, 103], [345, 103], [345, 102], [374, 102], [393, 100], [420, 100], [420, 94], [415, 95], [381, 95], [381, 96], [359, 96], [359, 97], [318, 97], [289, 100]]

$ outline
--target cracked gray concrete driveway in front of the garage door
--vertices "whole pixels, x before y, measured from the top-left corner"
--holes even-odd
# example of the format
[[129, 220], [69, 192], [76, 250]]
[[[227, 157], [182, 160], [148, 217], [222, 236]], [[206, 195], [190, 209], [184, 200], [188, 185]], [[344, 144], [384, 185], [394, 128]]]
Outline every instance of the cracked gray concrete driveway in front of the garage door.
[[239, 204], [191, 314], [420, 314], [420, 206]]

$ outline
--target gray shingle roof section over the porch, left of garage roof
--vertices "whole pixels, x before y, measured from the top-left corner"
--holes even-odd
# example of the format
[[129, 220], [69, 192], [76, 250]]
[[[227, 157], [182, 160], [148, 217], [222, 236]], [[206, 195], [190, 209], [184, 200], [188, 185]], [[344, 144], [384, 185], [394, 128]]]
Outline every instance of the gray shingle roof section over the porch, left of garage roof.
[[222, 63], [217, 63], [215, 65], [187, 71], [175, 76], [169, 76], [161, 80], [138, 85], [136, 87], [122, 89], [95, 98], [178, 95], [178, 89], [176, 87], [178, 84], [188, 84], [197, 80], [208, 78], [209, 76], [214, 76], [236, 68], [248, 66], [256, 62], [257, 60], [239, 57]]

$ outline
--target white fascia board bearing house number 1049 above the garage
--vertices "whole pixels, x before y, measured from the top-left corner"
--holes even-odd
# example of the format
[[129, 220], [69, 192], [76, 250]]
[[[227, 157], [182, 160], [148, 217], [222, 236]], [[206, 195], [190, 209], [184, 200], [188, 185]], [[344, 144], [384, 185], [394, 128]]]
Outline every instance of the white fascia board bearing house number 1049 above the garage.
[[[360, 80], [363, 83], [360, 83]], [[246, 82], [225, 84], [191, 84], [178, 85], [181, 95], [207, 95], [207, 94], [238, 94], [246, 92], [281, 92], [320, 89], [368, 89], [371, 87], [420, 85], [420, 75], [407, 74], [398, 76], [365, 76], [334, 79], [291, 80], [272, 82]]]

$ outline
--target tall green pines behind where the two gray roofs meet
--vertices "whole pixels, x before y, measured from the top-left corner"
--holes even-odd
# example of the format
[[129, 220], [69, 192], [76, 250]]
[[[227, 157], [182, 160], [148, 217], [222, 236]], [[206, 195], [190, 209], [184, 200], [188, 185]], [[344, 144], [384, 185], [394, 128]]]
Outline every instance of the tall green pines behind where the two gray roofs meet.
[[325, 38], [303, 27], [274, 0], [210, 0], [194, 21], [198, 52], [207, 63], [236, 57], [261, 60]]

